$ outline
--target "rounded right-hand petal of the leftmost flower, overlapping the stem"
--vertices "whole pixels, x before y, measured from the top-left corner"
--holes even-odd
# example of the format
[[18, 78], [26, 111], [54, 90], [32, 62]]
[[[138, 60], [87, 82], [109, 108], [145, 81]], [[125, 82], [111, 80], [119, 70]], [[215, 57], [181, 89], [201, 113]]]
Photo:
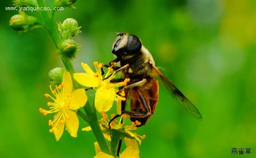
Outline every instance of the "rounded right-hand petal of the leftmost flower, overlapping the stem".
[[71, 103], [70, 108], [71, 110], [79, 109], [83, 107], [87, 102], [87, 95], [84, 89], [76, 89], [71, 94]]

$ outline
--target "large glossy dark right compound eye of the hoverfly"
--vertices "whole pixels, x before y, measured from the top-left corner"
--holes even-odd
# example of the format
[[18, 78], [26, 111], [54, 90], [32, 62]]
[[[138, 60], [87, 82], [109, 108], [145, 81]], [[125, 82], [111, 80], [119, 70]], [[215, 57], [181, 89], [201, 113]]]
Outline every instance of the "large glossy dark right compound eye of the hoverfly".
[[140, 39], [137, 36], [130, 35], [128, 37], [127, 45], [126, 45], [126, 51], [131, 53], [137, 53], [141, 49], [141, 42]]

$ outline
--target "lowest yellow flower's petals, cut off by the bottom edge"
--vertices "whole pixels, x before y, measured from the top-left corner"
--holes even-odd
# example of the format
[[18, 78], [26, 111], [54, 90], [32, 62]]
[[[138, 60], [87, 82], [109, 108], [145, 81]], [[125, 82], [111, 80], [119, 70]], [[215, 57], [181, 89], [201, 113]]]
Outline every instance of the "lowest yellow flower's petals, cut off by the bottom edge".
[[[137, 142], [134, 139], [125, 138], [124, 139], [127, 148], [119, 155], [119, 158], [140, 158], [139, 147]], [[102, 152], [98, 142], [94, 143], [96, 156], [94, 158], [115, 158], [112, 155], [108, 155], [105, 152]]]

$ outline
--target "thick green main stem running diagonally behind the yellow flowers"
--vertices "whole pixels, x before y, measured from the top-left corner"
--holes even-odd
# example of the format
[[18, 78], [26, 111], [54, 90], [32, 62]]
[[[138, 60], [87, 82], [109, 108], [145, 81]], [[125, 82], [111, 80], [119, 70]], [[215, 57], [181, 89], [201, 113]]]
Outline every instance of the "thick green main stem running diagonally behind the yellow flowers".
[[[38, 1], [38, 6], [39, 7], [45, 7], [45, 1], [44, 0], [37, 0]], [[53, 16], [49, 16], [47, 11], [41, 11], [44, 23], [45, 23], [45, 28], [47, 29], [47, 32], [51, 36], [56, 48], [58, 49], [59, 43], [61, 43], [61, 38], [58, 33], [57, 25], [53, 19]], [[73, 78], [73, 73], [75, 72], [73, 65], [70, 60], [65, 59], [64, 57], [61, 57], [61, 60], [65, 66], [65, 69], [70, 72], [73, 83], [74, 83], [74, 88], [81, 88], [77, 82], [74, 82]], [[80, 115], [82, 118], [84, 118], [85, 121], [87, 121], [91, 129], [93, 131], [93, 134], [95, 135], [96, 140], [99, 143], [99, 147], [101, 148], [102, 152], [105, 152], [107, 154], [111, 154], [110, 149], [108, 147], [108, 144], [106, 142], [106, 139], [103, 136], [102, 130], [99, 126], [98, 118], [96, 115], [96, 110], [95, 106], [93, 105], [93, 108], [90, 106], [90, 103], [87, 101], [86, 105], [84, 106], [84, 111], [87, 114], [84, 115], [81, 111], [78, 111], [78, 115]]]

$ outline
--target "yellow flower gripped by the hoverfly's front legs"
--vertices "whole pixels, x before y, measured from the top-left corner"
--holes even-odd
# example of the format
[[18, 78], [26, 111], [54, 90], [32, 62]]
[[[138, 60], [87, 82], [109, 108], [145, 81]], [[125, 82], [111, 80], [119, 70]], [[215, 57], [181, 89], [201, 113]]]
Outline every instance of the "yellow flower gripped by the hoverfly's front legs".
[[[102, 77], [102, 64], [94, 62], [96, 73], [86, 64], [81, 63], [85, 73], [75, 73], [74, 78], [78, 83], [87, 87], [94, 87], [96, 89], [95, 94], [95, 108], [98, 112], [106, 112], [111, 109], [113, 101], [125, 101], [124, 92], [117, 94], [118, 89], [116, 87], [125, 86], [130, 79], [125, 79], [123, 82], [111, 83], [111, 80], [115, 77], [116, 72], [113, 69], [108, 68], [108, 72], [105, 78]], [[111, 73], [113, 72], [113, 73]]]

